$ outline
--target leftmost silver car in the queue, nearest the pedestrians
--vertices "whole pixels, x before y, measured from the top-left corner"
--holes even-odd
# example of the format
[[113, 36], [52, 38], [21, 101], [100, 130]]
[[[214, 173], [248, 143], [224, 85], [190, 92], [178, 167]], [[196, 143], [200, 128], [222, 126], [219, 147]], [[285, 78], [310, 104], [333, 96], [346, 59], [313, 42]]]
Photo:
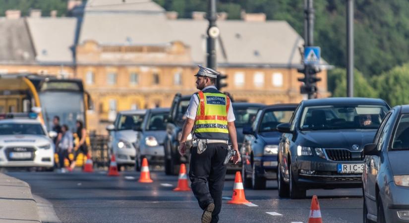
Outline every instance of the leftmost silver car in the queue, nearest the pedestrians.
[[110, 134], [108, 151], [115, 154], [118, 169], [135, 165], [135, 130], [141, 128], [145, 114], [146, 110], [120, 111], [114, 124], [107, 127]]

